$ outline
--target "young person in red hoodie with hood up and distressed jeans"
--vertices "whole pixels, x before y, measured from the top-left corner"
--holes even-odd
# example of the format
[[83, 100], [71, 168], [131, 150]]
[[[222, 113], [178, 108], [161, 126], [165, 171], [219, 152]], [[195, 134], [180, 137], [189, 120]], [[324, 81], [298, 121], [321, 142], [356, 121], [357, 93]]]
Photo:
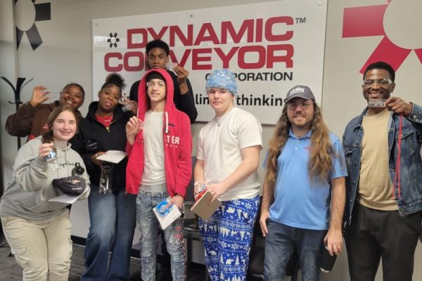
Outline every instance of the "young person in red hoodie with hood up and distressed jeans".
[[[182, 209], [191, 180], [192, 136], [188, 116], [173, 103], [173, 81], [165, 70], [146, 72], [138, 89], [138, 113], [127, 122], [126, 191], [138, 195], [136, 217], [141, 231], [141, 277], [155, 280], [158, 219], [153, 208], [171, 197]], [[182, 218], [165, 228], [174, 281], [185, 280]]]

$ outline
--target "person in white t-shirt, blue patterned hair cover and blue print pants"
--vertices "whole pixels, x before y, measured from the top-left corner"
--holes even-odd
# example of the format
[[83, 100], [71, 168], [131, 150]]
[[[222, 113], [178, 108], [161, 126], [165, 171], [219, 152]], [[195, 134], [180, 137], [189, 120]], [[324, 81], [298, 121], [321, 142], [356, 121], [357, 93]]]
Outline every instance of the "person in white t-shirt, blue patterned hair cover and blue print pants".
[[212, 200], [222, 205], [207, 221], [200, 219], [205, 263], [211, 280], [245, 280], [260, 201], [262, 127], [253, 115], [234, 106], [236, 78], [229, 70], [212, 72], [206, 90], [215, 117], [198, 136], [195, 192], [205, 183]]

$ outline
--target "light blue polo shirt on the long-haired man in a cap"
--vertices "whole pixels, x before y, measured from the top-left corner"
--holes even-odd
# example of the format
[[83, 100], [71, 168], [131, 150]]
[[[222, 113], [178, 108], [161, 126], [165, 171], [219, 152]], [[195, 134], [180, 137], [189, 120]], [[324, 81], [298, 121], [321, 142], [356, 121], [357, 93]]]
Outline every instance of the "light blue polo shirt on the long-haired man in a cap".
[[308, 161], [311, 134], [297, 138], [290, 129], [288, 141], [277, 159], [274, 203], [270, 218], [294, 228], [326, 230], [329, 226], [331, 179], [347, 176], [345, 155], [340, 140], [330, 133], [335, 150], [333, 170], [328, 181], [309, 180]]

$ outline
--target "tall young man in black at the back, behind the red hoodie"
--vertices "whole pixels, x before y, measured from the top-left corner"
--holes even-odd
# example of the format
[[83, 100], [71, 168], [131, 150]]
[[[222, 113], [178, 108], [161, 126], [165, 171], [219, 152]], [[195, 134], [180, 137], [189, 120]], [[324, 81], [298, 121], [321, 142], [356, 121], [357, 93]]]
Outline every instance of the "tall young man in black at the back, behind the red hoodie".
[[[172, 69], [173, 72], [166, 67], [166, 63], [169, 63], [170, 47], [165, 41], [160, 39], [149, 41], [148, 44], [146, 44], [145, 50], [148, 55], [148, 63], [146, 66], [149, 67], [149, 69], [165, 69], [169, 72], [174, 84], [174, 105], [176, 105], [178, 110], [185, 112], [186, 115], [188, 115], [191, 123], [195, 122], [198, 112], [195, 107], [191, 82], [188, 79], [188, 70], [180, 65], [176, 65]], [[138, 102], [138, 88], [139, 81], [136, 81], [130, 88], [130, 100]]]

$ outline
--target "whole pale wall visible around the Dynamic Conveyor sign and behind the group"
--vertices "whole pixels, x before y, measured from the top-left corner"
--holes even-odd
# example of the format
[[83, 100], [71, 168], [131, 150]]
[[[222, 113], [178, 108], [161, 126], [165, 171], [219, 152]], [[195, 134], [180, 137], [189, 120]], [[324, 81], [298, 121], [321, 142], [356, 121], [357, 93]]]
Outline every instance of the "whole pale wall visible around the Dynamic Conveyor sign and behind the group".
[[[77, 81], [87, 91], [87, 98], [82, 107], [82, 113], [85, 114], [92, 96], [89, 93], [92, 89], [91, 20], [264, 1], [37, 0], [36, 4], [47, 2], [51, 3], [51, 20], [36, 22], [44, 43], [37, 50], [32, 51], [27, 37], [24, 36], [22, 44], [16, 52], [13, 0], [0, 1], [0, 76], [6, 76], [13, 81], [18, 76], [34, 78], [34, 81], [28, 84], [22, 93], [21, 100], [23, 101], [30, 99], [32, 87], [35, 85], [44, 84], [51, 91], [57, 93], [64, 84], [69, 81]], [[360, 86], [362, 74], [359, 73], [359, 70], [382, 38], [380, 36], [342, 38], [343, 9], [351, 6], [386, 4], [386, 2], [385, 0], [331, 0], [328, 2], [322, 107], [328, 126], [338, 136], [343, 134], [347, 122], [358, 115], [365, 105]], [[406, 11], [405, 4], [395, 9], [397, 15], [412, 13], [412, 11]], [[418, 17], [419, 15], [415, 13], [414, 18]], [[395, 19], [394, 16], [390, 15], [385, 20], [394, 23], [389, 25], [392, 32], [407, 32], [409, 30], [404, 26], [402, 20]], [[409, 34], [409, 38], [415, 36], [416, 34]], [[419, 48], [421, 46], [422, 44]], [[416, 89], [420, 77], [422, 77], [421, 62], [412, 52], [397, 71], [395, 96], [422, 104], [421, 95], [418, 93], [419, 89]], [[10, 88], [3, 81], [0, 81], [0, 93], [1, 153], [4, 183], [7, 183], [11, 178], [11, 168], [17, 149], [15, 138], [8, 136], [4, 131], [4, 123], [6, 117], [14, 112], [14, 106], [7, 103], [7, 100], [13, 100], [13, 96]], [[203, 124], [193, 124], [192, 126], [194, 144], [196, 144], [196, 136], [201, 126]], [[264, 126], [264, 143], [268, 143], [272, 130], [272, 126]], [[263, 176], [262, 170], [260, 170], [260, 176]], [[72, 208], [72, 223], [73, 235], [86, 237], [89, 226], [86, 202], [78, 202]], [[421, 258], [422, 247], [418, 244], [415, 260], [418, 261]], [[343, 252], [333, 272], [323, 275], [322, 280], [348, 279], [347, 257]], [[416, 266], [414, 280], [421, 279], [422, 268]], [[376, 280], [382, 280], [381, 274], [378, 274]]]

